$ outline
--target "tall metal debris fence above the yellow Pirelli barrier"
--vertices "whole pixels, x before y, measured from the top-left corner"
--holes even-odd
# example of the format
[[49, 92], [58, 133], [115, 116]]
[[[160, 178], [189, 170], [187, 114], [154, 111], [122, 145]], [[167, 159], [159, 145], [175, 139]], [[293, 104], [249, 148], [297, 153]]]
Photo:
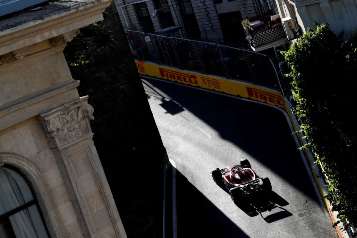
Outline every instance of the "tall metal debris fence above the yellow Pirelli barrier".
[[134, 58], [281, 90], [272, 60], [263, 54], [210, 42], [126, 31]]

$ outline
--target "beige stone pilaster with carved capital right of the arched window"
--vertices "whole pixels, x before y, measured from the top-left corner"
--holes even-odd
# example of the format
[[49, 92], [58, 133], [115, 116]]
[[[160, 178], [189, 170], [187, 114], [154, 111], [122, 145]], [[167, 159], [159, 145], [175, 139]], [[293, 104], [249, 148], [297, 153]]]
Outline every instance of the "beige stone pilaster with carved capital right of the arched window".
[[67, 191], [75, 193], [72, 197], [80, 207], [76, 213], [83, 214], [90, 236], [126, 237], [92, 141], [89, 121], [94, 120], [94, 110], [87, 99], [80, 97], [42, 113], [40, 119], [63, 180], [71, 181]]

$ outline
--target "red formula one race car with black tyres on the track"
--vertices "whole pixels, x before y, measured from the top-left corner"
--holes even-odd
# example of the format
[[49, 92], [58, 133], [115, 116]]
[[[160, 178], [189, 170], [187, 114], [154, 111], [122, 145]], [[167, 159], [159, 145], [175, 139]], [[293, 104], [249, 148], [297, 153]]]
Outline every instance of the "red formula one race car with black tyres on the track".
[[218, 186], [225, 185], [236, 204], [252, 194], [271, 191], [270, 180], [257, 176], [247, 159], [242, 159], [239, 165], [216, 168], [211, 174]]

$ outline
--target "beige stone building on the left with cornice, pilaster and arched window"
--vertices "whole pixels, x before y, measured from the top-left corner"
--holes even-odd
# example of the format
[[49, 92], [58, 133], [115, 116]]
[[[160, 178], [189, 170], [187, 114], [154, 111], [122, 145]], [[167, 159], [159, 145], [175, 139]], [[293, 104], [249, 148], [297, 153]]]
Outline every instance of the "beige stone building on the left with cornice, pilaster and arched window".
[[94, 109], [62, 52], [110, 2], [51, 1], [0, 19], [1, 237], [126, 237]]

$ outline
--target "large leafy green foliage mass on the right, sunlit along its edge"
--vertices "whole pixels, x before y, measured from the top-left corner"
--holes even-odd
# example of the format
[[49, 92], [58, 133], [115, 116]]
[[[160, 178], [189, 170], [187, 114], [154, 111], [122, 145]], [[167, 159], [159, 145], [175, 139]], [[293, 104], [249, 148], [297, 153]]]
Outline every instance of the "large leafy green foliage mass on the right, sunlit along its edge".
[[[357, 224], [357, 36], [342, 40], [328, 24], [308, 29], [283, 56], [291, 67], [301, 130], [330, 185], [326, 196], [338, 218]], [[336, 223], [335, 223], [336, 225]]]

